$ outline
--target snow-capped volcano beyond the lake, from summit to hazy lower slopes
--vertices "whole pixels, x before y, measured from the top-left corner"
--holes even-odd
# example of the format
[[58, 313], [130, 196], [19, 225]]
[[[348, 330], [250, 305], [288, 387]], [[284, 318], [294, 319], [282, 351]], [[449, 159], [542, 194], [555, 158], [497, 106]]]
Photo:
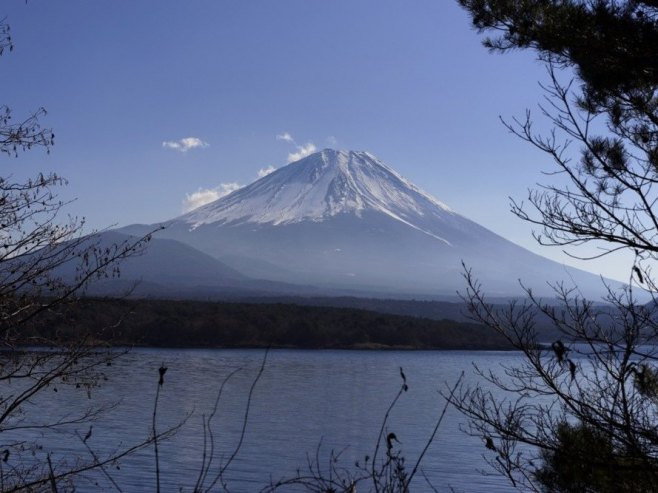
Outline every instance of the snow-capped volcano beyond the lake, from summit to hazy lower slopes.
[[598, 276], [505, 240], [368, 152], [325, 149], [163, 225], [158, 238], [249, 278], [445, 296], [464, 289], [463, 261], [492, 295], [522, 294], [519, 279], [540, 294], [559, 281], [586, 295], [602, 291]]

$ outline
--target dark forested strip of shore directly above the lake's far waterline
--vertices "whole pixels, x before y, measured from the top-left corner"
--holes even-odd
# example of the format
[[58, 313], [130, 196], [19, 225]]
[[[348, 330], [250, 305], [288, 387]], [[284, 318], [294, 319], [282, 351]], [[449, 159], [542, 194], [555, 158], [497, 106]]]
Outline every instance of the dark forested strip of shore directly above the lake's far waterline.
[[32, 337], [154, 347], [504, 349], [483, 326], [283, 303], [83, 299], [34, 323]]

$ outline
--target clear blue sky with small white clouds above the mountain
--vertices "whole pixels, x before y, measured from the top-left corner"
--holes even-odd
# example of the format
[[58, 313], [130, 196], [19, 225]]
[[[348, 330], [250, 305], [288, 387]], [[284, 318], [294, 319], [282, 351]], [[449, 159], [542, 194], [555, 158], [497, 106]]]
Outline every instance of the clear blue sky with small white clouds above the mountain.
[[372, 152], [535, 252], [628, 276], [623, 259], [538, 247], [509, 213], [552, 166], [499, 116], [536, 109], [544, 69], [488, 53], [456, 2], [4, 0], [3, 16], [15, 49], [0, 103], [16, 117], [45, 107], [57, 136], [50, 155], [2, 158], [5, 172], [63, 175], [91, 228], [166, 220], [336, 147]]

